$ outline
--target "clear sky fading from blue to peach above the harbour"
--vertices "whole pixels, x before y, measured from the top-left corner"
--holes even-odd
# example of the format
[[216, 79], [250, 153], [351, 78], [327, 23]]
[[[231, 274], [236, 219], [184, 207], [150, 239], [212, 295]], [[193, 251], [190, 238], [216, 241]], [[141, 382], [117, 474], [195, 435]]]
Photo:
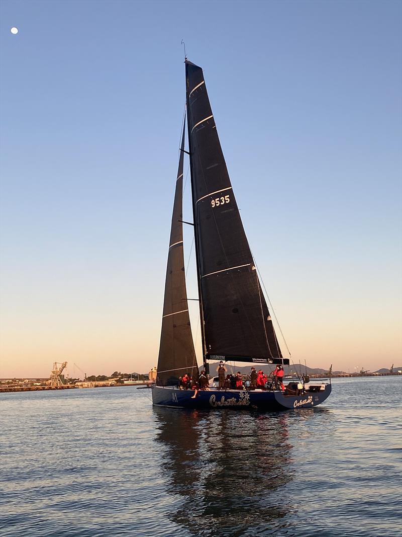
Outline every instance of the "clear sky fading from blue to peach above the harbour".
[[295, 361], [400, 365], [401, 5], [3, 0], [1, 376], [156, 365], [182, 38]]

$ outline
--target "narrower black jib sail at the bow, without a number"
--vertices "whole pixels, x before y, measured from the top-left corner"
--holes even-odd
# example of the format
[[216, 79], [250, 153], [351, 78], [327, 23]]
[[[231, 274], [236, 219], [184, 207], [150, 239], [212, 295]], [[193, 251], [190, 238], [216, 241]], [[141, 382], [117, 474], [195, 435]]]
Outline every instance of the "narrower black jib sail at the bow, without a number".
[[159, 386], [177, 384], [179, 376], [188, 373], [198, 378], [198, 366], [191, 335], [183, 252], [183, 157], [184, 126], [176, 179], [176, 191], [170, 230], [166, 269], [165, 300], [158, 357]]

